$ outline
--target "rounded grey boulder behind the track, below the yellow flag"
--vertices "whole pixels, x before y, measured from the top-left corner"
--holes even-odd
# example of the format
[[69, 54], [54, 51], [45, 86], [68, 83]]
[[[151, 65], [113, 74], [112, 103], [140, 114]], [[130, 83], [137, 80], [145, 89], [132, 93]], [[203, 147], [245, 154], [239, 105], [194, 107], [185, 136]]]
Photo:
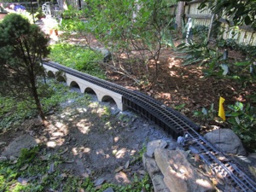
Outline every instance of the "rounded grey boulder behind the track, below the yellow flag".
[[214, 130], [208, 132], [204, 137], [224, 153], [247, 155], [245, 148], [243, 148], [241, 144], [240, 138], [230, 129]]

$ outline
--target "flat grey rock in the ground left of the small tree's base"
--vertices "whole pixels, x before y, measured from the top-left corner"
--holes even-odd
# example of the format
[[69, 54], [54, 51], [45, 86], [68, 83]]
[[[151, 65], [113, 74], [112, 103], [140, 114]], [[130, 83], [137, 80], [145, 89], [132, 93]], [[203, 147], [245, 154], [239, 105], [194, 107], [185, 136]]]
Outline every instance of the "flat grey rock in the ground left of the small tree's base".
[[10, 156], [18, 157], [20, 155], [21, 148], [33, 148], [38, 145], [40, 141], [29, 134], [22, 135], [20, 137], [15, 138], [12, 143], [9, 143], [2, 155], [9, 158]]

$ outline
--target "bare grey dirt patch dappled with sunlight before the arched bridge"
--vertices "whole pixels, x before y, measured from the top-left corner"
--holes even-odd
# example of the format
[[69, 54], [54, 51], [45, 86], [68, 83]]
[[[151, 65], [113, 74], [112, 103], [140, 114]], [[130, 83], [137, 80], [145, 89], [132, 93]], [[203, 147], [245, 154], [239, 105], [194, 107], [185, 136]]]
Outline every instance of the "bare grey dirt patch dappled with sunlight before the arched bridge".
[[[104, 106], [111, 115], [104, 118]], [[102, 118], [102, 119], [101, 119]], [[120, 112], [114, 103], [92, 102], [89, 107], [67, 102], [60, 112], [48, 115], [48, 127], [38, 119], [26, 120], [16, 129], [0, 134], [0, 156], [15, 159], [21, 148], [44, 146], [42, 160], [60, 155], [62, 174], [90, 177], [95, 182], [131, 183], [143, 177], [142, 152], [147, 143], [164, 139], [168, 148], [177, 143], [158, 126], [136, 113]]]

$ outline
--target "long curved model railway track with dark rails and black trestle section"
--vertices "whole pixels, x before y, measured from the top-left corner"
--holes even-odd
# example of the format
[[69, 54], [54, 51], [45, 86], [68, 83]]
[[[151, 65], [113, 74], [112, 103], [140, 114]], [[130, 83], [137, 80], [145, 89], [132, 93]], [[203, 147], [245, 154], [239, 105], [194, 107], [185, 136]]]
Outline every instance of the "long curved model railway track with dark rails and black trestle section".
[[[198, 125], [195, 125], [193, 121], [184, 117], [176, 110], [166, 107], [161, 102], [141, 92], [125, 89], [118, 84], [98, 79], [57, 63], [44, 61], [44, 65], [54, 67], [61, 72], [71, 74], [79, 79], [84, 79], [92, 84], [119, 93], [122, 95], [122, 102], [125, 106], [154, 121], [155, 124], [160, 125], [172, 137], [185, 136], [185, 143], [189, 143], [189, 146], [195, 148], [201, 160], [204, 160], [217, 175], [224, 177], [226, 182], [230, 183], [230, 186], [233, 186], [236, 191], [256, 192], [256, 183], [253, 179], [248, 177], [231, 160], [225, 160], [224, 162], [220, 160], [219, 157], [224, 157], [224, 154], [207, 142], [204, 137], [201, 137], [198, 133], [200, 130]], [[225, 157], [225, 159], [227, 158]]]

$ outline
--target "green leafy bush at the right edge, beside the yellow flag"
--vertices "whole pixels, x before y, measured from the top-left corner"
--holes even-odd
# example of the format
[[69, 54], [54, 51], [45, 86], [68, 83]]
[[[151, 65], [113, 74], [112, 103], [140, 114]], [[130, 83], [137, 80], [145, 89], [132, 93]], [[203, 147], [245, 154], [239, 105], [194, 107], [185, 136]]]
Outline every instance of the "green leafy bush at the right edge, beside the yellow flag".
[[242, 104], [241, 102], [236, 102], [229, 108], [228, 122], [232, 125], [232, 130], [241, 137], [247, 149], [256, 152], [256, 108], [253, 108], [250, 103]]

